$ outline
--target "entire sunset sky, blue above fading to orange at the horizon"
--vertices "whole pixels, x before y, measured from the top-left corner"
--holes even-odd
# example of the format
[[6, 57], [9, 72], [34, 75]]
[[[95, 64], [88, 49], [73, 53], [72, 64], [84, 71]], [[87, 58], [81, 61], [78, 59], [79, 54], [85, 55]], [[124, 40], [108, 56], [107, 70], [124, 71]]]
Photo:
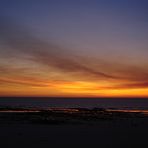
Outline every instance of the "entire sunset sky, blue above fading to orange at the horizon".
[[148, 97], [148, 1], [1, 0], [0, 96]]

